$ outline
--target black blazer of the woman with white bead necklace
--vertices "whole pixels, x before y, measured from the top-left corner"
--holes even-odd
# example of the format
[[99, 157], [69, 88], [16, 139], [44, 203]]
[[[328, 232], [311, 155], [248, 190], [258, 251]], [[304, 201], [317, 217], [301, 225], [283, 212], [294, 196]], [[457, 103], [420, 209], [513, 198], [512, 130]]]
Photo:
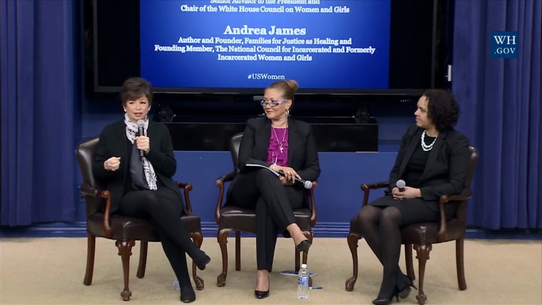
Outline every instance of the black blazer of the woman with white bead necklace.
[[[389, 174], [389, 190], [401, 179], [416, 145], [419, 145], [423, 129], [411, 125], [404, 133], [401, 147]], [[424, 201], [439, 200], [441, 195], [463, 192], [471, 160], [469, 139], [455, 129], [441, 131], [429, 153], [424, 172], [420, 177], [421, 197]], [[438, 211], [436, 202], [428, 203], [431, 210]]]

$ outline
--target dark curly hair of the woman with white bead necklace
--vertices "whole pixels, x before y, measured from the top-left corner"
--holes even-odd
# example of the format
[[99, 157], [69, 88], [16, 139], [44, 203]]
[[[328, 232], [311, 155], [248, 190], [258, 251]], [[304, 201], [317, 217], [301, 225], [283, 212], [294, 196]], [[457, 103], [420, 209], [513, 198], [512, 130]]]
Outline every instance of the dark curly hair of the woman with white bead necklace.
[[457, 124], [459, 103], [450, 91], [430, 89], [424, 92], [427, 98], [427, 116], [439, 131], [448, 130]]

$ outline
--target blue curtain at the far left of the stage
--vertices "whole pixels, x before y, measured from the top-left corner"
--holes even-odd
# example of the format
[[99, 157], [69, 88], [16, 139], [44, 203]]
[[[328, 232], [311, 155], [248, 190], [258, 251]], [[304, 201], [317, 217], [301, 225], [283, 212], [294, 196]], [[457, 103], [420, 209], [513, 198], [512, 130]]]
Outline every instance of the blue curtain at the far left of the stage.
[[71, 222], [73, 1], [0, 1], [0, 224]]

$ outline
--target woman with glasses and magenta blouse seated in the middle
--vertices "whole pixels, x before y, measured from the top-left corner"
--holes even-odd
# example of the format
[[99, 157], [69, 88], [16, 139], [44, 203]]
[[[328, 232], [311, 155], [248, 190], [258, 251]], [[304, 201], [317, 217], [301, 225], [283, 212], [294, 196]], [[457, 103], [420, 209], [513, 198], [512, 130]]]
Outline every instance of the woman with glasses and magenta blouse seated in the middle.
[[[256, 210], [257, 299], [269, 296], [277, 232], [292, 237], [300, 252], [310, 247], [295, 223], [293, 210], [307, 205], [295, 177], [316, 180], [320, 167], [311, 126], [289, 116], [295, 91], [296, 81], [276, 81], [265, 89], [261, 104], [266, 117], [248, 120], [239, 148], [240, 173], [227, 192], [225, 205]], [[282, 170], [285, 177], [247, 163]]]

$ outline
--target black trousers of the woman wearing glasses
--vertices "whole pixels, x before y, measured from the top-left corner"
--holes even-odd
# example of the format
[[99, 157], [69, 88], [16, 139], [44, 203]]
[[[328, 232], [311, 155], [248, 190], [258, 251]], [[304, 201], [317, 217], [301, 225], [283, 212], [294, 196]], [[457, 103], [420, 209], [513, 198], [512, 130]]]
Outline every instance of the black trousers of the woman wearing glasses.
[[293, 210], [302, 207], [305, 192], [299, 187], [282, 185], [269, 170], [240, 175], [228, 204], [255, 210], [257, 269], [271, 272], [277, 234], [289, 236], [286, 227], [295, 222]]

